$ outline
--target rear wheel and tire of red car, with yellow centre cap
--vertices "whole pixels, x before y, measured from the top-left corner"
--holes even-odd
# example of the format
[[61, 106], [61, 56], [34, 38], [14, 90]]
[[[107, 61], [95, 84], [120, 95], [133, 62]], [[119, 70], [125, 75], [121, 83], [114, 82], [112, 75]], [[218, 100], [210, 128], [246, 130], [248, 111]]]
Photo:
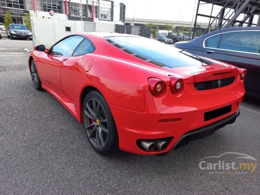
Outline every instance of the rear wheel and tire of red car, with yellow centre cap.
[[[94, 104], [96, 109], [93, 108]], [[91, 147], [102, 155], [119, 151], [115, 121], [101, 93], [96, 90], [90, 91], [82, 107], [84, 129]]]

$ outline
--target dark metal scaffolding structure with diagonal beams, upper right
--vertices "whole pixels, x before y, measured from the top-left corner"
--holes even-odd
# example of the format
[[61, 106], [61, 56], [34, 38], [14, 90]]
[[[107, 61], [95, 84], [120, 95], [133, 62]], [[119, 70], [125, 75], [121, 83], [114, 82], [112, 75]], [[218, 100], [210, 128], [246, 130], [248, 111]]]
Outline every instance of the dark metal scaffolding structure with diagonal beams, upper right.
[[[203, 4], [212, 4], [210, 15], [198, 13], [200, 5]], [[213, 8], [216, 5], [221, 6], [222, 8], [216, 16], [212, 16]], [[230, 10], [226, 10], [226, 8], [229, 8]], [[196, 29], [198, 16], [209, 18], [208, 31], [210, 31], [210, 28], [218, 30], [222, 28], [230, 28], [234, 25], [242, 27], [243, 24], [247, 24], [247, 26], [260, 26], [259, 13], [260, 0], [198, 0], [194, 29]], [[244, 15], [244, 18], [239, 21], [237, 18], [241, 14]], [[257, 24], [252, 23], [255, 16], [258, 17]], [[215, 26], [212, 26], [213, 24]], [[195, 31], [193, 31], [192, 37], [194, 37], [194, 33]]]

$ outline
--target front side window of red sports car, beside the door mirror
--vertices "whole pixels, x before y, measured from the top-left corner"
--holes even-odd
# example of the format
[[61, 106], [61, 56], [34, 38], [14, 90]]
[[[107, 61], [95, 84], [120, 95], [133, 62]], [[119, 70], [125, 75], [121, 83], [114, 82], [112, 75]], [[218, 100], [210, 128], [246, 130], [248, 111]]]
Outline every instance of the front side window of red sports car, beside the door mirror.
[[83, 39], [84, 37], [81, 36], [68, 37], [63, 41], [60, 41], [58, 44], [54, 45], [51, 54], [56, 56], [72, 56], [73, 51]]

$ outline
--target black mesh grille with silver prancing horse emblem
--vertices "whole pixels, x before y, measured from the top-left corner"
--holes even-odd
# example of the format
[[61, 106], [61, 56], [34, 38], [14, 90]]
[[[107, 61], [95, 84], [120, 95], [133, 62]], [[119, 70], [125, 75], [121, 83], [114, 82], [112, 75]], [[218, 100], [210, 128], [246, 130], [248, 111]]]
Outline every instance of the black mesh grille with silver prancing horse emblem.
[[236, 77], [233, 76], [233, 77], [229, 77], [229, 78], [225, 78], [225, 79], [218, 79], [218, 80], [194, 83], [194, 87], [196, 90], [215, 89], [215, 88], [224, 87], [224, 86], [232, 84], [235, 81], [235, 78]]

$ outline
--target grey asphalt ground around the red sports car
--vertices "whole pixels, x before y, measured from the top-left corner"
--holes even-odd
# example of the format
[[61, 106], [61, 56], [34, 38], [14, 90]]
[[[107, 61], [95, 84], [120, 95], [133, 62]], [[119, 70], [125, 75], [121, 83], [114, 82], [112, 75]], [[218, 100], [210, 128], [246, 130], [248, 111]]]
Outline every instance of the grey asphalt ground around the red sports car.
[[166, 156], [103, 157], [86, 141], [83, 125], [33, 88], [24, 50], [32, 41], [2, 39], [0, 47], [0, 194], [259, 194], [258, 164], [248, 174], [199, 168], [200, 159], [226, 152], [260, 162], [258, 100], [246, 97], [234, 124]]

